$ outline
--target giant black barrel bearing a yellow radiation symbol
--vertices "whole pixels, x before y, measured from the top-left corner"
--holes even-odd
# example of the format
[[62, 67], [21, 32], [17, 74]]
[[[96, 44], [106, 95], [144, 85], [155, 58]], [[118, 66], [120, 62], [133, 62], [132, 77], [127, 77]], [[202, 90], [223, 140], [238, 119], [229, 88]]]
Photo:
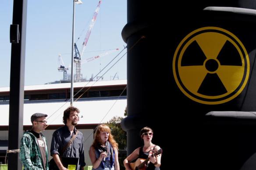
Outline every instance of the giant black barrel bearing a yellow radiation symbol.
[[[243, 166], [256, 147], [250, 141], [246, 149], [252, 152], [241, 152], [246, 141], [237, 129], [249, 127], [235, 123], [221, 131], [205, 115], [256, 110], [254, 9], [253, 0], [128, 0], [122, 31], [128, 46], [128, 117], [122, 121], [128, 154], [142, 145], [139, 130], [149, 126], [153, 143], [163, 148], [162, 170]], [[223, 156], [216, 141], [231, 142], [228, 132], [239, 140], [232, 140]]]

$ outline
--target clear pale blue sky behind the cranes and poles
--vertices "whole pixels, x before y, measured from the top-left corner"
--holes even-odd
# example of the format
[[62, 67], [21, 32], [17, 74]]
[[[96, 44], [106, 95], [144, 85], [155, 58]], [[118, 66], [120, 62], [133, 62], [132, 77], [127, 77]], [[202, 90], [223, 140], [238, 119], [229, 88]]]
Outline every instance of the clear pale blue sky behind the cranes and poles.
[[[82, 2], [83, 4], [76, 4], [75, 7], [75, 42], [78, 50], [82, 48], [82, 42], [99, 0]], [[0, 87], [7, 87], [10, 84], [9, 29], [12, 24], [12, 4], [12, 0], [0, 1]], [[63, 72], [57, 70], [58, 55], [62, 56], [66, 67], [71, 65], [72, 10], [72, 0], [28, 0], [25, 85], [40, 85], [63, 78]], [[103, 50], [119, 48], [121, 51], [126, 46], [121, 37], [121, 31], [126, 23], [126, 0], [102, 0], [82, 60], [97, 56], [103, 53]], [[77, 41], [78, 37], [80, 39]], [[82, 64], [83, 77], [89, 79], [92, 74], [96, 75], [116, 55], [117, 52], [111, 53]], [[126, 79], [126, 60], [125, 55], [104, 75], [103, 80], [110, 80], [116, 73], [119, 79]]]

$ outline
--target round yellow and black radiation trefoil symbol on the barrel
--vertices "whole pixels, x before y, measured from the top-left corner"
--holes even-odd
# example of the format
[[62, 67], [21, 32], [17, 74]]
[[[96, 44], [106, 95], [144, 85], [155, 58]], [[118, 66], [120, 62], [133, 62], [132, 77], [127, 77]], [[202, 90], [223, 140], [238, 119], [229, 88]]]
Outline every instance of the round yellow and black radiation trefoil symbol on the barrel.
[[203, 104], [226, 103], [245, 88], [248, 53], [231, 32], [218, 27], [199, 28], [179, 43], [173, 74], [188, 98]]

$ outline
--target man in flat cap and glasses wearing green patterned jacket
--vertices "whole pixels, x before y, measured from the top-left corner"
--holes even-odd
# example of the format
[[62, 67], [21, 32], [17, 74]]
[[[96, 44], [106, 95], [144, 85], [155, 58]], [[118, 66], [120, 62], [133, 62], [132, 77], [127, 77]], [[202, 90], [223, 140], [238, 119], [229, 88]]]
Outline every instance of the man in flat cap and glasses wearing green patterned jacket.
[[31, 116], [32, 130], [24, 132], [21, 138], [21, 163], [24, 170], [49, 170], [46, 139], [41, 133], [46, 128], [47, 114], [34, 113]]

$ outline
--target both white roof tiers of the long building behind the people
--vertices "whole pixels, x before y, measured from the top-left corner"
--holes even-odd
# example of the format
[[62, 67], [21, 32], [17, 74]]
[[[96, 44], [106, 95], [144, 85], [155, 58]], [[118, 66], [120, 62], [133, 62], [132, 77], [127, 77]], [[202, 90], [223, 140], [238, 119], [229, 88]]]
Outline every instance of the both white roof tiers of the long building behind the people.
[[[86, 86], [126, 85], [126, 83], [126, 80], [98, 81], [96, 83], [91, 81]], [[83, 86], [85, 86], [85, 82], [74, 83], [74, 87]], [[25, 90], [65, 88], [70, 88], [70, 83], [25, 86]], [[0, 88], [0, 92], [8, 92], [8, 90], [7, 88]], [[48, 114], [46, 120], [49, 125], [62, 125], [63, 112], [68, 106], [70, 106], [70, 101], [65, 99], [24, 101], [23, 125], [32, 125], [30, 117], [33, 113], [46, 113]], [[74, 99], [73, 106], [80, 110], [81, 118], [78, 124], [106, 123], [114, 116], [124, 117], [127, 97], [80, 98], [78, 101]], [[9, 124], [9, 102], [0, 103], [0, 110], [0, 126], [7, 126]]]

